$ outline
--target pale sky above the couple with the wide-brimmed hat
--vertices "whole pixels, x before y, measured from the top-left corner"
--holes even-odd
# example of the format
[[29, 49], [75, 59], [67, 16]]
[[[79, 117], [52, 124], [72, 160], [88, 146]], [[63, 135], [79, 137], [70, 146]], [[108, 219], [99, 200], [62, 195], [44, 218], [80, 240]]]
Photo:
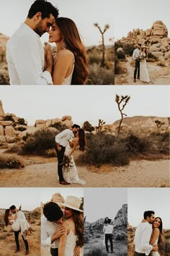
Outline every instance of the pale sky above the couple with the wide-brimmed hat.
[[74, 197], [84, 197], [83, 188], [44, 188], [40, 189], [41, 202], [49, 202], [55, 193], [60, 193], [66, 200], [66, 197], [72, 195]]

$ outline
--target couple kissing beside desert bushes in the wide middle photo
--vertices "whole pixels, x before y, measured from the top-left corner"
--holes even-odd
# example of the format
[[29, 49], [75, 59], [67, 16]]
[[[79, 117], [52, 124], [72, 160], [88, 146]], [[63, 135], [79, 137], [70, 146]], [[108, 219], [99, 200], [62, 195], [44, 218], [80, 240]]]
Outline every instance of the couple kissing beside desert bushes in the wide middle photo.
[[80, 129], [78, 124], [73, 124], [71, 129], [65, 129], [55, 136], [58, 157], [58, 177], [59, 183], [68, 185], [71, 183], [86, 184], [79, 179], [76, 164], [73, 160], [73, 151], [79, 145], [79, 150], [84, 151], [86, 146], [86, 137], [84, 129]]

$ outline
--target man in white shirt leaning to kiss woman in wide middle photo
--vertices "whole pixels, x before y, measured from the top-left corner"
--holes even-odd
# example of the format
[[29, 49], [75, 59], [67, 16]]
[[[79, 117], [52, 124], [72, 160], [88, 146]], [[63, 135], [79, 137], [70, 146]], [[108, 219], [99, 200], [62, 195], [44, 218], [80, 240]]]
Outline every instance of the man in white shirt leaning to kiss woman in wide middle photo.
[[59, 133], [55, 136], [56, 142], [56, 151], [58, 157], [58, 176], [59, 176], [59, 183], [63, 185], [68, 185], [69, 183], [63, 179], [63, 155], [66, 148], [67, 143], [71, 140], [74, 135], [76, 135], [77, 131], [80, 129], [78, 124], [73, 124], [71, 129], [65, 129], [63, 132]]

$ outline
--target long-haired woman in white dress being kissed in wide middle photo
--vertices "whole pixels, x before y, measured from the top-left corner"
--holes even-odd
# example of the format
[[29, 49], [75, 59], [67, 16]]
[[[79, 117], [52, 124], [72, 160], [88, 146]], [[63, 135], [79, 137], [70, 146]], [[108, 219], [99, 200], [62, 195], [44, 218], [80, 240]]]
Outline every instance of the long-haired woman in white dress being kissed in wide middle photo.
[[68, 183], [78, 183], [84, 185], [86, 182], [82, 179], [79, 179], [76, 164], [73, 160], [73, 151], [76, 149], [77, 145], [79, 145], [79, 150], [85, 150], [86, 137], [84, 129], [79, 129], [78, 136], [69, 140], [68, 144], [66, 145], [63, 163], [63, 179], [65, 179]]

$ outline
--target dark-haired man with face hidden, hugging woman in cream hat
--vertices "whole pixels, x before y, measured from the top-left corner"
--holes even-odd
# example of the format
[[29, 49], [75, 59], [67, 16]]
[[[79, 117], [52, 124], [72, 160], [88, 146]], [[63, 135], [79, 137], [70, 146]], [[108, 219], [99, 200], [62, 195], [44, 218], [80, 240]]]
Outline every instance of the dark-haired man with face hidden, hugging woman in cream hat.
[[[63, 212], [55, 202], [48, 202], [43, 208], [41, 217], [41, 244], [50, 246], [50, 254], [58, 256], [59, 238], [66, 232], [63, 226]], [[74, 256], [79, 256], [79, 247], [75, 247]]]

